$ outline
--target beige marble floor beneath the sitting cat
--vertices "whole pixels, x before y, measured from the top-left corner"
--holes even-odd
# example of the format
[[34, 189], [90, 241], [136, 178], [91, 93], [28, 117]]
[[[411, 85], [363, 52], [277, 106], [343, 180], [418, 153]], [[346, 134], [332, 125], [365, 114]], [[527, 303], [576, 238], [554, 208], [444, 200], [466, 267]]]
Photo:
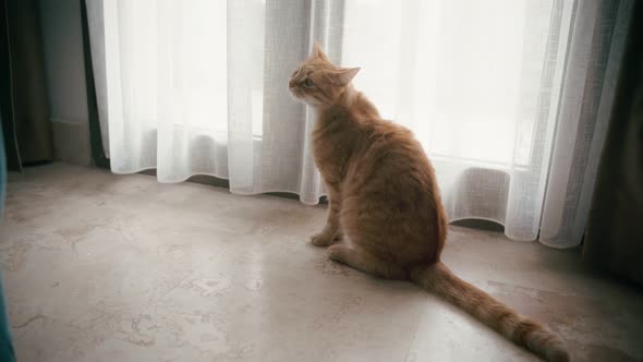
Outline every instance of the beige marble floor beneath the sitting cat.
[[[329, 262], [324, 208], [60, 164], [12, 174], [0, 227], [20, 361], [535, 361], [407, 282]], [[452, 227], [463, 278], [577, 361], [643, 360], [641, 289], [578, 251]]]

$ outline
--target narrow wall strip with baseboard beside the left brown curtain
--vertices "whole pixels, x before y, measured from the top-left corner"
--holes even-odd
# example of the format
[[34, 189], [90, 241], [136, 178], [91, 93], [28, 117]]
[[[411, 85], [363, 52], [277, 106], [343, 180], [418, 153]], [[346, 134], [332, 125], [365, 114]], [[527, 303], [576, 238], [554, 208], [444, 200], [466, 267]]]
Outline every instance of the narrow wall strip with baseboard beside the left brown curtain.
[[54, 156], [89, 165], [81, 0], [39, 0], [39, 5]]

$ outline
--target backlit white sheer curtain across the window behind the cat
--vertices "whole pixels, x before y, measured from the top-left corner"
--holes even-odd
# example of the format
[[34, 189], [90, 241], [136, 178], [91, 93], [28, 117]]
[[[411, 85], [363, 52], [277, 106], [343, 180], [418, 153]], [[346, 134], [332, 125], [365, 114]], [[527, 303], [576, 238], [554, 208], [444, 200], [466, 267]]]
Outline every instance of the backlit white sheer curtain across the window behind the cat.
[[318, 40], [415, 131], [451, 220], [534, 240], [575, 13], [571, 0], [89, 0], [112, 171], [211, 174], [234, 193], [317, 203], [315, 114], [287, 83]]

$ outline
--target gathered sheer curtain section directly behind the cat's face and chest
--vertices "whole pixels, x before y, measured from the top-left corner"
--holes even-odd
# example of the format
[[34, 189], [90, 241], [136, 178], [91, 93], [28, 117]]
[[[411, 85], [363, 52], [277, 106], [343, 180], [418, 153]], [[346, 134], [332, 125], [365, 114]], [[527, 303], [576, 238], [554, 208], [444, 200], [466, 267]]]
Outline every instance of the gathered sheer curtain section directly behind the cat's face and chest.
[[284, 80], [314, 40], [339, 60], [341, 1], [228, 3], [228, 169], [241, 194], [291, 192], [316, 204], [323, 184], [310, 149], [314, 112]]

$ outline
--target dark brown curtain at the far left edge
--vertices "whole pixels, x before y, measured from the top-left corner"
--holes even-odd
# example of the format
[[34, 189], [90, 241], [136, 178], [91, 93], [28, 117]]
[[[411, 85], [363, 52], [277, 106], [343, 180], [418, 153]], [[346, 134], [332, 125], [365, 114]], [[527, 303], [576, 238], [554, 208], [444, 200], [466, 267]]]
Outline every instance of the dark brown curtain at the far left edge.
[[36, 0], [0, 2], [0, 90], [9, 168], [53, 159], [45, 60]]

